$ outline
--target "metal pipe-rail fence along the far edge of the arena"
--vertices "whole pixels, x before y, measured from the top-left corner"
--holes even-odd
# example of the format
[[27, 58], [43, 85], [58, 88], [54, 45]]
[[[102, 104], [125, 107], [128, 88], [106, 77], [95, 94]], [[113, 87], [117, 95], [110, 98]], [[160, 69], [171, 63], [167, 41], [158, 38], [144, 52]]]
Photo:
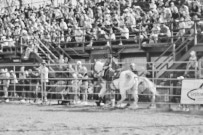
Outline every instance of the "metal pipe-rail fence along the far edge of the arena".
[[[130, 63], [119, 63], [122, 66], [122, 70], [129, 69]], [[174, 64], [180, 64], [180, 68], [177, 69], [165, 69], [167, 75], [164, 77], [156, 78], [157, 70], [153, 67], [158, 63], [136, 63], [138, 74], [140, 76], [147, 76], [152, 80], [157, 87], [159, 97], [157, 97], [157, 104], [175, 104], [180, 103], [181, 81], [177, 79], [179, 76], [183, 76], [186, 72], [185, 67], [188, 62], [174, 62]], [[72, 66], [70, 66], [72, 65]], [[151, 69], [146, 69], [147, 65], [152, 65]], [[201, 65], [201, 64], [199, 64]], [[21, 67], [24, 66], [24, 72], [21, 72]], [[38, 64], [25, 64], [25, 65], [0, 65], [0, 97], [1, 99], [11, 100], [48, 100], [52, 101], [67, 101], [67, 102], [95, 102], [98, 100], [98, 93], [100, 91], [100, 84], [93, 78], [92, 70], [88, 70], [89, 78], [78, 77], [78, 74], [83, 72], [79, 71], [76, 64], [69, 65], [54, 65], [50, 64], [47, 67], [60, 67], [59, 70], [49, 70], [49, 82], [44, 83], [44, 80], [37, 72]], [[91, 63], [84, 64], [84, 66], [92, 67]], [[67, 70], [67, 67], [69, 69]], [[4, 69], [4, 70], [2, 70]], [[64, 70], [66, 69], [66, 70]], [[73, 70], [74, 69], [74, 70]], [[9, 72], [7, 72], [7, 70]], [[200, 73], [202, 68], [199, 66], [195, 69], [188, 69], [187, 73], [190, 76], [188, 78], [198, 78], [197, 73]], [[22, 69], [23, 71], [23, 69]], [[75, 74], [74, 74], [75, 73]], [[9, 75], [10, 74], [10, 75]], [[21, 75], [20, 75], [21, 74]], [[64, 77], [64, 74], [68, 74], [68, 78]], [[25, 77], [25, 78], [23, 78]], [[201, 78], [202, 75], [199, 75]], [[140, 87], [142, 88], [142, 87]], [[112, 92], [108, 89], [106, 98], [112, 98]], [[115, 96], [115, 95], [114, 95]], [[148, 96], [150, 93], [139, 93], [139, 102], [149, 102]], [[47, 97], [47, 98], [46, 98]], [[116, 92], [117, 99], [119, 93]], [[130, 99], [129, 99], [130, 100]]]

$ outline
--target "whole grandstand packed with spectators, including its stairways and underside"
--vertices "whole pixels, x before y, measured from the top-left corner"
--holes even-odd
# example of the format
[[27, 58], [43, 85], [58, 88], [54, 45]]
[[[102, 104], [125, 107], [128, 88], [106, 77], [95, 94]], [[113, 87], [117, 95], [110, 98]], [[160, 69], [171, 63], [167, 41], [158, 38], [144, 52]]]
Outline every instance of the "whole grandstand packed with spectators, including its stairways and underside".
[[144, 63], [155, 71], [154, 78], [169, 78], [184, 75], [173, 70], [186, 69], [181, 62], [189, 60], [191, 51], [202, 56], [203, 10], [198, 0], [32, 3], [14, 11], [5, 8], [1, 14], [1, 65], [43, 60], [59, 64], [60, 55], [71, 63], [92, 63], [112, 53], [128, 63], [124, 68]]

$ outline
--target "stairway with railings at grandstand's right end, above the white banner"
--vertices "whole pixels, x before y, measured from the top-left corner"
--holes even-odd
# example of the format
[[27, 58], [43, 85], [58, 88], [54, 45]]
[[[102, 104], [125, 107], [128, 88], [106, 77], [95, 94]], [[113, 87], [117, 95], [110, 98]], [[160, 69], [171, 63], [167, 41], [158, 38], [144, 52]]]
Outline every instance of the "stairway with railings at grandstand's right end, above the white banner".
[[[191, 51], [203, 52], [203, 46], [195, 44], [194, 35], [192, 36], [193, 38], [187, 37], [183, 42], [181, 38], [177, 39], [154, 61], [156, 63], [156, 78], [166, 77], [170, 72], [173, 72], [173, 69], [180, 67], [183, 61], [189, 59]], [[186, 66], [183, 67], [186, 68]]]

